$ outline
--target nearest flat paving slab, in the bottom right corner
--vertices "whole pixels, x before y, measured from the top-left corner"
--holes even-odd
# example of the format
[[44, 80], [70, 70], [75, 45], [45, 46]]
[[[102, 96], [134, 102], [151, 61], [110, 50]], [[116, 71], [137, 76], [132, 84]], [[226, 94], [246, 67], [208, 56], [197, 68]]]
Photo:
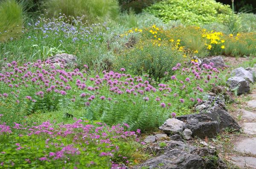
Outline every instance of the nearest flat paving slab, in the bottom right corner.
[[254, 157], [241, 157], [241, 156], [234, 156], [231, 157], [233, 163], [239, 167], [249, 167], [249, 168], [256, 168], [256, 158]]

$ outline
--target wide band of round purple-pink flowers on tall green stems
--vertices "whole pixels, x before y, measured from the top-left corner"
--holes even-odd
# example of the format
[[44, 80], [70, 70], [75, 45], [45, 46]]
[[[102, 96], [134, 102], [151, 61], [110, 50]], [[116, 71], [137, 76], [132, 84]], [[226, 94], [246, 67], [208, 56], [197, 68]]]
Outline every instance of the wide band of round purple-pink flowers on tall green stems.
[[[121, 73], [95, 75], [86, 71], [87, 65], [84, 70], [64, 70], [40, 60], [22, 67], [11, 62], [0, 73], [0, 112], [5, 115], [3, 120], [12, 124], [31, 113], [81, 110], [85, 119], [151, 130], [173, 112], [190, 113], [189, 107], [202, 99], [203, 91], [218, 84], [219, 70], [211, 65], [199, 68], [196, 62], [177, 63], [171, 80], [156, 85], [148, 75], [131, 76], [125, 68]], [[168, 78], [169, 72], [165, 74]]]

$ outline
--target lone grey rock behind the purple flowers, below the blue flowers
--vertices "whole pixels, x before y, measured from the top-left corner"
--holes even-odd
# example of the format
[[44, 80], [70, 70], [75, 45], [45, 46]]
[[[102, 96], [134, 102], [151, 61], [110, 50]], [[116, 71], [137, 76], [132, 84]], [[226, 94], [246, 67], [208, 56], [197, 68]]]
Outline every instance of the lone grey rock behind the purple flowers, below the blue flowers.
[[63, 65], [67, 67], [67, 65], [76, 64], [76, 56], [71, 54], [55, 54], [54, 56], [47, 58], [46, 61], [50, 61], [54, 65]]

